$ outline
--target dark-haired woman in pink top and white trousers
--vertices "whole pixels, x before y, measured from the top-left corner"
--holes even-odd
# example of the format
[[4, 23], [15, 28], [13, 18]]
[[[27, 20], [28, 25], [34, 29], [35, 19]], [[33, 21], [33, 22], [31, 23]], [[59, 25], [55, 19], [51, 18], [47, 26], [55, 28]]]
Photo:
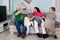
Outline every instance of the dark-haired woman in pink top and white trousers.
[[[33, 16], [35, 16], [34, 28], [35, 28], [37, 35], [39, 35], [40, 37], [46, 38], [47, 34], [45, 32], [45, 27], [44, 27], [44, 20], [43, 20], [44, 14], [43, 14], [43, 12], [41, 12], [38, 7], [34, 7], [34, 11], [32, 14], [33, 14]], [[42, 29], [41, 35], [39, 34], [38, 24], [41, 24], [41, 29]]]

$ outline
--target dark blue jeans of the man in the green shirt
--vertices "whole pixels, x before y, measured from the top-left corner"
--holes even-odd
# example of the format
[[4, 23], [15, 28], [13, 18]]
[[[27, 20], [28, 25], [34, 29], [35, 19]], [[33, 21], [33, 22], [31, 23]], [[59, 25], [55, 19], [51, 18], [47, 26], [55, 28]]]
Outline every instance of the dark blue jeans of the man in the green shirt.
[[[22, 24], [22, 31], [20, 29], [20, 24]], [[25, 35], [26, 34], [26, 31], [27, 31], [27, 28], [24, 26], [24, 21], [15, 21], [15, 26], [16, 26], [16, 29], [17, 29], [17, 32], [19, 34], [22, 34], [22, 35]]]

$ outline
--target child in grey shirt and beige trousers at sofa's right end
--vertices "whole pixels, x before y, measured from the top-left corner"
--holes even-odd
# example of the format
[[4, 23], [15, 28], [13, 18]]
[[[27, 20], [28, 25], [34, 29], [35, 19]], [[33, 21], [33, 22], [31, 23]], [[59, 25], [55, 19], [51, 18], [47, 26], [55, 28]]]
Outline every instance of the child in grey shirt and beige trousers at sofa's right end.
[[45, 26], [46, 26], [46, 32], [50, 31], [53, 33], [53, 36], [55, 39], [57, 39], [56, 36], [56, 30], [55, 30], [55, 19], [56, 19], [56, 14], [55, 14], [55, 7], [50, 7], [49, 13], [46, 16], [45, 19]]

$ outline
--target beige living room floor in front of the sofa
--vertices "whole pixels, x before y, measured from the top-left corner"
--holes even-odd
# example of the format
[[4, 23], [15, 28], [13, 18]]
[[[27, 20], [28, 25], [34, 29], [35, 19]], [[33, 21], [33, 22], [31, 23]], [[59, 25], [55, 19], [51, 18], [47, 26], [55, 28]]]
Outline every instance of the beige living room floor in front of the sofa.
[[9, 31], [5, 31], [0, 34], [0, 40], [60, 40], [60, 28], [56, 28], [58, 39], [54, 39], [53, 37], [49, 37], [46, 39], [38, 38], [36, 35], [29, 35], [25, 39], [21, 37], [17, 37], [16, 34], [10, 34]]

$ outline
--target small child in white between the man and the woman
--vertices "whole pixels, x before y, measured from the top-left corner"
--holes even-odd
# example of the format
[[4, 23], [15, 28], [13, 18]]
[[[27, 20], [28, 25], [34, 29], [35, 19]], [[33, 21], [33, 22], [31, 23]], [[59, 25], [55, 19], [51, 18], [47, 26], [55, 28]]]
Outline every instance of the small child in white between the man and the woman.
[[27, 27], [27, 35], [29, 34], [29, 27], [31, 25], [33, 26], [33, 22], [32, 22], [33, 19], [34, 19], [34, 16], [30, 17], [29, 14], [24, 19], [24, 25]]

